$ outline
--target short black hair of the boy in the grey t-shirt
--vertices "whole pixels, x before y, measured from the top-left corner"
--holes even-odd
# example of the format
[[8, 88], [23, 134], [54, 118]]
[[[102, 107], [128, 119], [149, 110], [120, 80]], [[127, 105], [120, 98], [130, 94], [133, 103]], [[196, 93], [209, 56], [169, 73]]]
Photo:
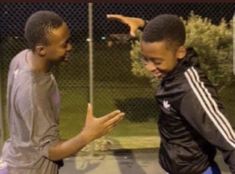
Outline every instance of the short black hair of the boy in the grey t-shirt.
[[51, 30], [59, 28], [64, 20], [52, 11], [37, 11], [27, 20], [24, 28], [24, 36], [28, 47], [34, 50], [38, 43], [48, 44], [48, 36]]

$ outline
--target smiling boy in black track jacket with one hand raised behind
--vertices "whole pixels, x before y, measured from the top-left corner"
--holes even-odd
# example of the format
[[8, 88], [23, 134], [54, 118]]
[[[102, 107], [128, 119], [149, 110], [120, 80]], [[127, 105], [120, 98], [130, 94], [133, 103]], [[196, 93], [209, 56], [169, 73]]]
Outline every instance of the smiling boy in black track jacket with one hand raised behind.
[[174, 15], [159, 15], [145, 26], [140, 18], [108, 15], [129, 25], [131, 35], [144, 27], [141, 60], [161, 79], [160, 164], [170, 174], [220, 174], [214, 162], [219, 149], [235, 174], [235, 134], [216, 89], [201, 71], [197, 53], [185, 48], [185, 27]]

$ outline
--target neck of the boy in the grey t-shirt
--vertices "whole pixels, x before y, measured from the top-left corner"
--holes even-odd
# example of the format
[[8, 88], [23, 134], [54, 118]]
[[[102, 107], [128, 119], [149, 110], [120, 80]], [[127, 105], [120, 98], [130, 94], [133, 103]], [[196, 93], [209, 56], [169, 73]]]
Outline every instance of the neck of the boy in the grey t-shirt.
[[46, 59], [30, 51], [26, 57], [29, 67], [32, 71], [38, 73], [47, 73], [51, 70], [52, 65]]

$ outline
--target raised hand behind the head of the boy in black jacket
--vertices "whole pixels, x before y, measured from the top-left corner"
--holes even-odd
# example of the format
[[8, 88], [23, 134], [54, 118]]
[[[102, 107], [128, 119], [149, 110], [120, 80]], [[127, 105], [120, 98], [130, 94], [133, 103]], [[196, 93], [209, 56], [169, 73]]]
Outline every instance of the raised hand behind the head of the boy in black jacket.
[[145, 21], [141, 18], [128, 17], [119, 14], [107, 14], [107, 18], [111, 20], [117, 20], [123, 24], [126, 24], [130, 28], [130, 35], [135, 37], [136, 31], [140, 27], [144, 27]]

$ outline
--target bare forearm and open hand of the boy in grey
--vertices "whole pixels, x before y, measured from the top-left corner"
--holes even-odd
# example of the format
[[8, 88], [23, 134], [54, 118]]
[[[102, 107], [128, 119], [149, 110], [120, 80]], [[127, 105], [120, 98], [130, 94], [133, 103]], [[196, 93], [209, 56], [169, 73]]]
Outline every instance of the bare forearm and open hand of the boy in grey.
[[86, 122], [83, 130], [68, 140], [61, 140], [53, 146], [50, 146], [48, 158], [57, 161], [79, 152], [91, 141], [110, 132], [123, 119], [123, 116], [123, 112], [116, 110], [103, 117], [96, 118], [93, 115], [92, 106], [88, 104]]

